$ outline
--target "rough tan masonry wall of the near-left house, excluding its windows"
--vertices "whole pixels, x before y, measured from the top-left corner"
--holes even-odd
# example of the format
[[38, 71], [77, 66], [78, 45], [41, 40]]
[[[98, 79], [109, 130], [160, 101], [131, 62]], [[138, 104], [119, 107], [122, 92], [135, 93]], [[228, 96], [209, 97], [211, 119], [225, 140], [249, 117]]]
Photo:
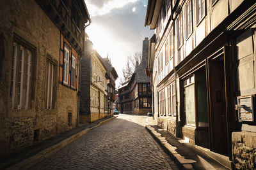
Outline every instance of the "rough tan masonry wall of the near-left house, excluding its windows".
[[[38, 140], [50, 138], [70, 129], [77, 122], [77, 91], [58, 83], [60, 64], [60, 30], [33, 0], [3, 0], [0, 5], [0, 157], [24, 146], [33, 145], [34, 131]], [[12, 109], [10, 81], [13, 38], [33, 48], [35, 78], [31, 109]], [[45, 109], [45, 70], [47, 57], [56, 64], [56, 102], [54, 109]], [[79, 63], [78, 63], [79, 64]], [[79, 70], [77, 70], [79, 73]], [[77, 78], [78, 79], [78, 78]]]

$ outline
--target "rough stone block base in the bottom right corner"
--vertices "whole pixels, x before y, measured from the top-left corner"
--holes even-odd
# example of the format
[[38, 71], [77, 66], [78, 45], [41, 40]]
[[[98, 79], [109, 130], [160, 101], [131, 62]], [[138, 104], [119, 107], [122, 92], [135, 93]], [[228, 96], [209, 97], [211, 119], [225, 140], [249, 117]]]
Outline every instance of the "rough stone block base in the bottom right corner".
[[232, 162], [236, 169], [256, 169], [255, 132], [232, 132]]

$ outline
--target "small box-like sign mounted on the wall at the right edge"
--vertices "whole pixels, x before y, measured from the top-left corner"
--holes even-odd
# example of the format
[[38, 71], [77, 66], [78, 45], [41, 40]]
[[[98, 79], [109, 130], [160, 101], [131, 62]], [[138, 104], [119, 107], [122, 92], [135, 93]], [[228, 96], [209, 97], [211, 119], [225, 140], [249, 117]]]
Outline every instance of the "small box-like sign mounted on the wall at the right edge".
[[254, 111], [253, 111], [253, 96], [238, 96], [236, 110], [238, 111], [239, 122], [253, 122]]

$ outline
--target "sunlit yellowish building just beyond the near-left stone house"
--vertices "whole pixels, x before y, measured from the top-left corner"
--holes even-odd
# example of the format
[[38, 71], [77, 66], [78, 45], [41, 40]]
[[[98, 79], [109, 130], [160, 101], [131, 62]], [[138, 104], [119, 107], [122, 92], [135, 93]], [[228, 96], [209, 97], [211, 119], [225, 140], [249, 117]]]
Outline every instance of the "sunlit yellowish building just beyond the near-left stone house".
[[[79, 122], [89, 123], [109, 116], [106, 110], [108, 69], [93, 43], [86, 38], [86, 52], [81, 62], [81, 86], [79, 101]], [[113, 115], [113, 113], [112, 113]]]

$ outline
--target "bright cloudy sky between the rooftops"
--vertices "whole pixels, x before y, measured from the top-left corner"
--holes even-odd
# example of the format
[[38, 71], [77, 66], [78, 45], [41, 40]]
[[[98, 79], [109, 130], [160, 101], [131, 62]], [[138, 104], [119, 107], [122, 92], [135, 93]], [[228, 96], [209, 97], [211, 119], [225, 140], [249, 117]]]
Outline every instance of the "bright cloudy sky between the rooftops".
[[154, 31], [144, 27], [147, 0], [84, 0], [92, 24], [86, 27], [89, 39], [102, 58], [107, 56], [118, 74], [134, 52], [142, 52], [142, 41]]

